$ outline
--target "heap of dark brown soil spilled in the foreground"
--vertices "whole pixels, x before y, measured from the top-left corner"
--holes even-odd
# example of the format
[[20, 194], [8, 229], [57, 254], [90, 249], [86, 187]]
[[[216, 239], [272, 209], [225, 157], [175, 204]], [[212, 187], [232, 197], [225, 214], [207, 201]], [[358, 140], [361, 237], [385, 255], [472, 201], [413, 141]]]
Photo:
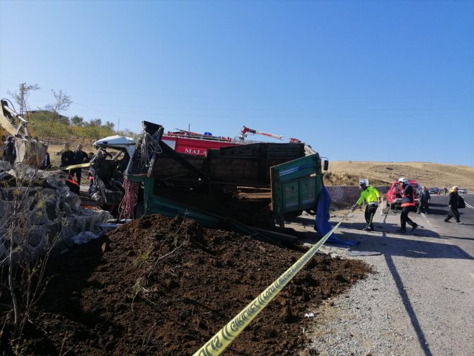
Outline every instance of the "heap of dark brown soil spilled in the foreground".
[[[34, 355], [192, 355], [306, 250], [147, 215], [50, 261], [19, 343]], [[224, 355], [294, 355], [305, 314], [371, 272], [317, 255]], [[6, 314], [4, 314], [6, 316]], [[8, 343], [8, 327], [0, 344]]]

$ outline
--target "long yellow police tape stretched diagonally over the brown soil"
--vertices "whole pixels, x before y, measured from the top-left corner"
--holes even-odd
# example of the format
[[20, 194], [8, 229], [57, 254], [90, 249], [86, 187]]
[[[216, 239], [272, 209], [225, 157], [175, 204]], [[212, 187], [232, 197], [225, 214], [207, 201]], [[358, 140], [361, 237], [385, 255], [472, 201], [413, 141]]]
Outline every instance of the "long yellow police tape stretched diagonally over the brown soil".
[[257, 298], [253, 299], [245, 309], [243, 309], [236, 317], [234, 317], [229, 323], [221, 328], [221, 331], [216, 333], [212, 338], [205, 343], [202, 348], [197, 350], [193, 356], [216, 356], [220, 355], [227, 346], [229, 346], [233, 339], [235, 339], [238, 334], [240, 334], [243, 329], [250, 324], [250, 321], [255, 318], [255, 316], [262, 311], [267, 304], [269, 304], [272, 299], [279, 293], [280, 290], [283, 289], [285, 285], [296, 275], [296, 273], [301, 270], [301, 268], [308, 263], [309, 260], [313, 257], [313, 255], [318, 251], [318, 249], [323, 246], [323, 243], [333, 234], [335, 229], [339, 227], [342, 223], [337, 223], [336, 226], [333, 227], [328, 234], [323, 236], [323, 239], [320, 239], [313, 247], [311, 247], [308, 252], [306, 252], [299, 260], [294, 263], [286, 272], [284, 272], [281, 276], [275, 280], [270, 287], [267, 287], [262, 294], [260, 294]]

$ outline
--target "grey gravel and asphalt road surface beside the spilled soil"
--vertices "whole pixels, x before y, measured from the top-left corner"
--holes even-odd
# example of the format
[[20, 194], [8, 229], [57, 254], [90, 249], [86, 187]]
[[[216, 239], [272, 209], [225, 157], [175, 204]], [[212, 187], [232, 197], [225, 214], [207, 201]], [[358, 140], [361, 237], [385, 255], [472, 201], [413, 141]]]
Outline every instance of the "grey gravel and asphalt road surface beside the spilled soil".
[[405, 235], [394, 232], [400, 212], [379, 210], [376, 232], [362, 231], [362, 211], [349, 215], [337, 236], [359, 244], [326, 251], [381, 253], [356, 257], [378, 273], [320, 309], [312, 331], [316, 355], [472, 355], [474, 211], [463, 211], [464, 225], [446, 224], [446, 199], [432, 199], [432, 214], [411, 213], [423, 227]]

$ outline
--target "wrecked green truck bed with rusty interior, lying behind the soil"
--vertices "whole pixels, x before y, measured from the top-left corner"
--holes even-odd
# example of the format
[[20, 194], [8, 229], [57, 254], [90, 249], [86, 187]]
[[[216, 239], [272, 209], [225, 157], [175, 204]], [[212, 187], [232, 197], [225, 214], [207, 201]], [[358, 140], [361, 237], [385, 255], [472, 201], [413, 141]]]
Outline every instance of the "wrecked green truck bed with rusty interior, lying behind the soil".
[[[243, 230], [284, 226], [304, 210], [315, 212], [323, 185], [318, 153], [302, 143], [252, 143], [179, 154], [161, 140], [163, 127], [143, 122], [125, 171], [138, 196], [137, 215], [190, 217], [204, 226]], [[327, 169], [327, 161], [325, 161]], [[132, 188], [133, 187], [133, 188]]]

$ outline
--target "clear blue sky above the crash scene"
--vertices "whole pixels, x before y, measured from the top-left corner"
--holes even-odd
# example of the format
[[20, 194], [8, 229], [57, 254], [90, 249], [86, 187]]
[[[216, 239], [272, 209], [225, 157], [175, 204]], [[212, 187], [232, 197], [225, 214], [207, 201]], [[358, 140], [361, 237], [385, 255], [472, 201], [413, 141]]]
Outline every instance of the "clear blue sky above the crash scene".
[[[0, 96], [342, 161], [474, 166], [474, 1], [0, 0]], [[255, 136], [253, 139], [262, 137]]]

